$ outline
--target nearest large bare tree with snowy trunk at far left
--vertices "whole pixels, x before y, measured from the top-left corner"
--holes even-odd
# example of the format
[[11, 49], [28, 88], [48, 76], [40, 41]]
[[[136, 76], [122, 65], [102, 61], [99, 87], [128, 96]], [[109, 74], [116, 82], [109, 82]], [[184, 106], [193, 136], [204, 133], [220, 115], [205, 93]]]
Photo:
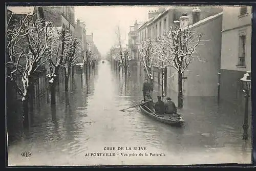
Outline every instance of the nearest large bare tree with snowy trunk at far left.
[[[7, 66], [8, 78], [15, 84], [22, 97], [25, 126], [28, 126], [28, 97], [33, 88], [36, 71], [48, 61], [48, 43], [52, 25], [44, 19], [33, 20], [32, 16], [12, 18], [7, 21]], [[22, 78], [22, 86], [15, 76]]]

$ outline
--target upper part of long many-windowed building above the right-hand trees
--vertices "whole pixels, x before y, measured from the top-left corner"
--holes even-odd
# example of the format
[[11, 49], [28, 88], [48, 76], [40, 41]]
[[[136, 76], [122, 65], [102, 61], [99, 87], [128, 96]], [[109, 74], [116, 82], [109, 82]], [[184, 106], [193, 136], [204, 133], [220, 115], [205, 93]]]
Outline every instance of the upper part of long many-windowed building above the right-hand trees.
[[222, 7], [160, 7], [158, 10], [150, 10], [148, 12], [148, 20], [144, 25], [138, 28], [138, 41], [143, 41], [148, 38], [156, 40], [165, 30], [175, 24], [175, 21], [180, 20], [180, 16], [186, 13], [188, 16], [188, 25], [197, 23], [199, 20], [207, 18], [222, 12]]

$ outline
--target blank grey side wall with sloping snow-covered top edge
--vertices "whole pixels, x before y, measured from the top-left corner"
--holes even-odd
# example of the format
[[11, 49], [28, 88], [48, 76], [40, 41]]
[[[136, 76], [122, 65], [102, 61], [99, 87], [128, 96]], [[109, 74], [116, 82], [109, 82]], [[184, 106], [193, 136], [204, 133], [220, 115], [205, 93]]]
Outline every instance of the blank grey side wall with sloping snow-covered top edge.
[[[189, 21], [188, 21], [189, 24]], [[183, 75], [184, 96], [217, 96], [218, 72], [221, 59], [222, 12], [206, 17], [189, 26], [189, 29], [203, 33], [201, 44], [196, 47], [193, 62]], [[169, 72], [169, 73], [168, 73]], [[178, 92], [178, 74], [169, 68], [169, 89]]]

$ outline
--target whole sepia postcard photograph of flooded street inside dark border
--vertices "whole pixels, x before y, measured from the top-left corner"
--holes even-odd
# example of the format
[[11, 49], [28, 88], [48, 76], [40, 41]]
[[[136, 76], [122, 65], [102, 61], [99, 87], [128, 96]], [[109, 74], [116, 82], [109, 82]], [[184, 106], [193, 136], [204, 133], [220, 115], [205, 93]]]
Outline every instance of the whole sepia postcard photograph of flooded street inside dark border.
[[5, 13], [7, 166], [252, 163], [251, 6]]

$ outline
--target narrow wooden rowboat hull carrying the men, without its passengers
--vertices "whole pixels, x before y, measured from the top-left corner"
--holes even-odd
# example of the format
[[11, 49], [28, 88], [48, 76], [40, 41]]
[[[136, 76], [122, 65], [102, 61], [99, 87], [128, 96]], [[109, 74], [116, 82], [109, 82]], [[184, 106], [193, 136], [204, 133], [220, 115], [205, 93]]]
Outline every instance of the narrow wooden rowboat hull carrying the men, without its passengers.
[[139, 105], [139, 107], [143, 114], [150, 116], [151, 118], [159, 122], [170, 124], [170, 125], [179, 125], [179, 126], [181, 126], [184, 123], [184, 119], [182, 118], [181, 115], [180, 116], [175, 114], [174, 115], [172, 114], [157, 115], [156, 113], [148, 112], [144, 104]]

